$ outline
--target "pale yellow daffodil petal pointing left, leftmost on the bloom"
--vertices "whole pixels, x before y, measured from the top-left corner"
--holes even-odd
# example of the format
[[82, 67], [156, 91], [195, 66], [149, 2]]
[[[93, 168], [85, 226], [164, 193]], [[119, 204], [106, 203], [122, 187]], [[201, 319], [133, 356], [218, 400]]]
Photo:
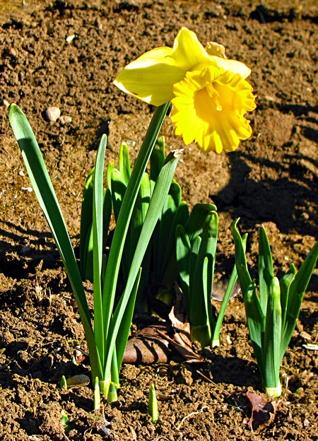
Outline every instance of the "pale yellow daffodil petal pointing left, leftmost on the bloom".
[[173, 98], [173, 85], [184, 78], [185, 70], [175, 66], [170, 47], [158, 47], [132, 61], [114, 80], [125, 93], [159, 106]]

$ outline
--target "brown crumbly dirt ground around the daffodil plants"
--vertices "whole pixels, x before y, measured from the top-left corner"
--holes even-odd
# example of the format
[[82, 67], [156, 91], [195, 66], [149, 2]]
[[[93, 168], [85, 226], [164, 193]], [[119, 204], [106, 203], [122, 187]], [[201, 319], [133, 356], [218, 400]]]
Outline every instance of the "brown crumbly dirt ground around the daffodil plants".
[[[81, 192], [100, 136], [108, 135], [107, 160], [117, 158], [122, 141], [136, 155], [153, 114], [112, 85], [119, 69], [149, 49], [172, 46], [181, 26], [203, 44], [221, 43], [229, 58], [252, 68], [254, 133], [230, 154], [204, 155], [190, 145], [176, 179], [189, 204], [218, 206], [218, 277], [230, 274], [229, 228], [238, 216], [249, 233], [252, 273], [264, 223], [281, 276], [291, 262], [299, 267], [318, 239], [317, 1], [0, 0], [0, 25], [0, 439], [318, 440], [318, 353], [303, 347], [318, 340], [317, 269], [281, 367], [288, 390], [273, 421], [254, 432], [245, 420], [246, 393], [264, 391], [240, 295], [225, 314], [221, 346], [197, 348], [204, 363], [173, 355], [165, 365], [124, 365], [119, 401], [105, 405], [105, 416], [92, 412], [90, 388], [59, 389], [61, 375], [89, 375], [88, 365], [71, 363], [75, 346], [85, 350], [86, 343], [8, 124], [8, 105], [16, 102], [45, 155], [78, 252]], [[71, 122], [47, 122], [49, 106]], [[184, 147], [169, 118], [162, 134], [168, 149]], [[135, 329], [142, 320], [134, 317]], [[153, 382], [161, 394], [157, 425], [147, 416]]]

